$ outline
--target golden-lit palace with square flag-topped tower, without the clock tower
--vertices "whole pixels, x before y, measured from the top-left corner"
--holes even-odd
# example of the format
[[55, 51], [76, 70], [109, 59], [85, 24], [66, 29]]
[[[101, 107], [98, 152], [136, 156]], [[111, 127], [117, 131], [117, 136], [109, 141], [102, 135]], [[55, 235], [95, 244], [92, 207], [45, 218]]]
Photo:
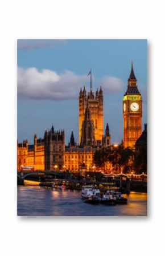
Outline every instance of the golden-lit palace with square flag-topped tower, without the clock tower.
[[[35, 170], [94, 170], [94, 152], [101, 147], [110, 147], [109, 126], [105, 136], [103, 92], [92, 91], [92, 74], [90, 71], [90, 91], [80, 89], [79, 96], [79, 145], [75, 143], [73, 131], [68, 146], [65, 146], [64, 131], [54, 131], [52, 128], [44, 133], [44, 139], [37, 140], [34, 145], [27, 141], [18, 144], [18, 170], [21, 165], [34, 166]], [[25, 155], [24, 155], [25, 154]]]

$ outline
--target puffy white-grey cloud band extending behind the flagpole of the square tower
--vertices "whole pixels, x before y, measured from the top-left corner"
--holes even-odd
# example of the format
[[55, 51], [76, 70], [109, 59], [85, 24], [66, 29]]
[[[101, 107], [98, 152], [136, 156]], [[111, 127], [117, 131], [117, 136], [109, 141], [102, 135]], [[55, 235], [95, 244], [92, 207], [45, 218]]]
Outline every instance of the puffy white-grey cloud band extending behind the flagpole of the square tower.
[[[85, 75], [76, 75], [71, 71], [57, 74], [56, 71], [37, 68], [18, 67], [18, 97], [31, 99], [65, 100], [77, 99], [80, 87], [89, 80]], [[118, 78], [105, 77], [101, 80], [106, 94], [122, 90], [122, 81]]]

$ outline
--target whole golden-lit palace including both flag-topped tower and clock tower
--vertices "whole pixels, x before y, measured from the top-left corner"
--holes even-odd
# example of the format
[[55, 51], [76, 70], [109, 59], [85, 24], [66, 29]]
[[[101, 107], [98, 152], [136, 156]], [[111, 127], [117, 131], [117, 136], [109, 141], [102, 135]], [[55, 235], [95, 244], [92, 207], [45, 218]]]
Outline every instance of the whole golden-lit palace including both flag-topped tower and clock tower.
[[[138, 91], [133, 63], [123, 96], [123, 147], [135, 148], [137, 139], [142, 134], [142, 96]], [[97, 149], [113, 147], [109, 125], [106, 124], [104, 135], [104, 96], [102, 88], [92, 91], [90, 71], [90, 90], [85, 87], [79, 94], [79, 144], [75, 143], [73, 131], [68, 145], [65, 145], [64, 130], [55, 131], [53, 126], [44, 132], [44, 138], [34, 136], [34, 144], [25, 140], [17, 144], [17, 168], [34, 166], [35, 170], [74, 170], [81, 168], [94, 170], [94, 152]], [[106, 169], [111, 169], [110, 162]]]

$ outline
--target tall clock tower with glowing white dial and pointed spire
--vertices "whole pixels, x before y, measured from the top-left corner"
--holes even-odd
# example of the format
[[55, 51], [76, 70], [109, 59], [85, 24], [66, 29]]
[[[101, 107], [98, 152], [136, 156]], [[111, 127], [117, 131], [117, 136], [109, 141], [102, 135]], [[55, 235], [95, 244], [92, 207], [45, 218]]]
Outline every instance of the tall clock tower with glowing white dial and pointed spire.
[[135, 147], [135, 142], [142, 134], [142, 96], [138, 91], [133, 62], [128, 79], [127, 91], [123, 96], [123, 144]]

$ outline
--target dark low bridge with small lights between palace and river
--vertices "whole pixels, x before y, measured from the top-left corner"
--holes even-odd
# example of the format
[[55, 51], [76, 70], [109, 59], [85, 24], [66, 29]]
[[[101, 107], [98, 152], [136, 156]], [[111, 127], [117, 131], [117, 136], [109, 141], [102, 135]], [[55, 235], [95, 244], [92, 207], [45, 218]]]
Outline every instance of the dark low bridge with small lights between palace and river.
[[[59, 180], [61, 182], [68, 181], [72, 184], [108, 184], [109, 182], [114, 182], [117, 186], [127, 188], [131, 187], [132, 191], [146, 192], [147, 191], [147, 180], [134, 180], [134, 178], [128, 177], [125, 174], [110, 174], [104, 175], [103, 173], [88, 172], [88, 174], [82, 175], [81, 173], [69, 173], [69, 172], [51, 172], [45, 170], [35, 170], [35, 171], [19, 171], [17, 173], [18, 184], [22, 185], [23, 181], [32, 178], [32, 180], [38, 180], [42, 183], [50, 182], [53, 180]], [[58, 181], [57, 181], [58, 182]], [[110, 183], [109, 183], [110, 184]], [[85, 184], [84, 184], [85, 185]]]

